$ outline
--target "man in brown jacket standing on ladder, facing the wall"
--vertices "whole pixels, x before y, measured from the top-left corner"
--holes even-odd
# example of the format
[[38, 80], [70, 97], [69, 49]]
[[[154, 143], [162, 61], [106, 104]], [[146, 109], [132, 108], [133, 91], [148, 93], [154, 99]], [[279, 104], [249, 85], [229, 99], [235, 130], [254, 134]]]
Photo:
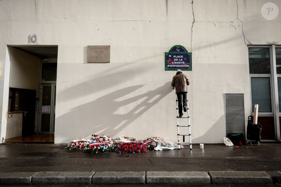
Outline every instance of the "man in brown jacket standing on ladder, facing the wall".
[[187, 112], [187, 86], [189, 81], [187, 75], [181, 70], [177, 70], [172, 78], [172, 87], [176, 89], [179, 117], [183, 116], [183, 109]]

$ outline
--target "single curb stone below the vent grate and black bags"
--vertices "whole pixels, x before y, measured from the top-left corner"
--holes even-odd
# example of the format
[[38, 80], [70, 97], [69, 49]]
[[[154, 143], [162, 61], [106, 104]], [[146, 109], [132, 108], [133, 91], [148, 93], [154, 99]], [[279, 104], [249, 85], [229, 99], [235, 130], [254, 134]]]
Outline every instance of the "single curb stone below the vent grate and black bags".
[[268, 185], [272, 179], [264, 172], [209, 172], [212, 185]]

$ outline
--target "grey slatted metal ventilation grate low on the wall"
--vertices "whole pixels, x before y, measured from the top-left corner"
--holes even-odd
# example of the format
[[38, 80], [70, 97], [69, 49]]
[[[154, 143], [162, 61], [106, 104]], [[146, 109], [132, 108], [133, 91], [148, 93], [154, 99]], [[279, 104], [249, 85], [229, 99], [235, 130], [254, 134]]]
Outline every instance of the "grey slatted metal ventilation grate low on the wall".
[[242, 133], [245, 137], [244, 94], [229, 94], [224, 96], [226, 134]]

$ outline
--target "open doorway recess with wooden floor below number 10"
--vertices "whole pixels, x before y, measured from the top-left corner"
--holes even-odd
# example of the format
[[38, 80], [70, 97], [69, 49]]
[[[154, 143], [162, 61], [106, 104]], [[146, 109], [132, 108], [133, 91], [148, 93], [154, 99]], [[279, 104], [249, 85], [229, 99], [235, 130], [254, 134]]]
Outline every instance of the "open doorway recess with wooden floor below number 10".
[[[22, 113], [23, 117], [22, 120], [18, 117], [16, 121], [22, 122], [22, 126], [7, 123], [7, 129], [22, 127], [20, 129], [22, 133], [17, 133], [17, 136], [14, 133], [12, 137], [6, 136], [5, 143], [54, 143], [58, 46], [13, 45], [8, 46], [8, 49], [11, 58], [10, 77], [13, 77], [12, 81], [10, 78], [9, 87], [10, 90], [12, 88], [22, 92], [21, 98], [24, 99], [21, 101], [25, 108], [12, 113], [9, 103], [8, 121], [13, 123], [12, 118], [18, 116], [16, 113]], [[32, 64], [36, 68], [32, 68], [30, 72]], [[28, 78], [16, 76], [17, 74]], [[6, 135], [14, 131], [6, 131]]]

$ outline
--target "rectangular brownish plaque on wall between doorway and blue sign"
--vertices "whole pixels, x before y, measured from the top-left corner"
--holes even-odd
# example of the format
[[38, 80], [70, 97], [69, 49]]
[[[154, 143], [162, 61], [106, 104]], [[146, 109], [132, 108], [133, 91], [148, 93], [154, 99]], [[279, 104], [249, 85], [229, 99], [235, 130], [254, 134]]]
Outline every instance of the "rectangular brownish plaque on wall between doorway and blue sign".
[[110, 45], [89, 45], [87, 62], [110, 62]]

